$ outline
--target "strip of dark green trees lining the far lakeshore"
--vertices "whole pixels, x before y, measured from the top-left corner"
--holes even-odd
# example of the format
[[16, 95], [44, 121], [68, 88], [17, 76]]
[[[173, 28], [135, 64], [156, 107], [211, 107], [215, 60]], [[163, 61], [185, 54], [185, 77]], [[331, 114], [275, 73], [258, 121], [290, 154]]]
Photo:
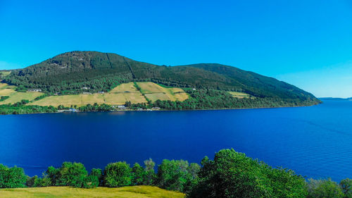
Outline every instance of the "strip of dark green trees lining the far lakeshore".
[[[194, 109], [241, 109], [241, 108], [258, 108], [258, 107], [281, 107], [281, 106], [308, 106], [318, 104], [319, 101], [302, 101], [300, 99], [279, 99], [279, 98], [250, 98], [238, 99], [232, 97], [229, 92], [215, 89], [186, 89], [189, 99], [185, 101], [150, 101], [142, 104], [132, 104], [130, 101], [125, 102], [128, 109], [152, 109], [159, 107], [164, 110], [194, 110]], [[46, 97], [43, 95], [41, 97]], [[37, 98], [39, 99], [39, 98]], [[34, 99], [34, 100], [37, 100]], [[58, 106], [30, 106], [26, 105], [30, 101], [22, 100], [15, 104], [0, 105], [0, 114], [18, 114], [18, 113], [51, 113], [57, 110], [69, 109], [68, 107]], [[77, 108], [77, 106], [71, 106]], [[113, 106], [108, 104], [87, 104], [77, 108], [79, 111], [113, 111]]]

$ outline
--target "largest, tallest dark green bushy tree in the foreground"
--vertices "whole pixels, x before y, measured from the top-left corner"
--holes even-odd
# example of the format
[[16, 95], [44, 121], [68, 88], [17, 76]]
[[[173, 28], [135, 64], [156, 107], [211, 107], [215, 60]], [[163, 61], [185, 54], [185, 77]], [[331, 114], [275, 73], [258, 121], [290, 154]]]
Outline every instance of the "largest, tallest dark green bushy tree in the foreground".
[[202, 161], [199, 178], [187, 197], [306, 197], [306, 182], [300, 175], [274, 169], [234, 149]]

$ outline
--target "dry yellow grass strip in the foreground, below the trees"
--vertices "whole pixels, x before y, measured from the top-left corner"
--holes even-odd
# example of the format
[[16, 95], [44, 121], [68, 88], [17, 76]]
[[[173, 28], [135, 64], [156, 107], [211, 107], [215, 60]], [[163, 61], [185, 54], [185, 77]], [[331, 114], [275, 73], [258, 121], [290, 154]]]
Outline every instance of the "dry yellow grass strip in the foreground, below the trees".
[[28, 187], [0, 190], [0, 197], [134, 197], [181, 198], [184, 194], [153, 186], [97, 187]]

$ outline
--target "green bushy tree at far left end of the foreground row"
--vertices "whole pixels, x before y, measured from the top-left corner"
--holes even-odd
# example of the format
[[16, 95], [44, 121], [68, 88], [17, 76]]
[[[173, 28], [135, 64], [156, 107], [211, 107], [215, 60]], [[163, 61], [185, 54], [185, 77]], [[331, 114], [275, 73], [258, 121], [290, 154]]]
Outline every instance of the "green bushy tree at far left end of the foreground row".
[[25, 187], [27, 176], [23, 168], [8, 168], [0, 163], [0, 188]]

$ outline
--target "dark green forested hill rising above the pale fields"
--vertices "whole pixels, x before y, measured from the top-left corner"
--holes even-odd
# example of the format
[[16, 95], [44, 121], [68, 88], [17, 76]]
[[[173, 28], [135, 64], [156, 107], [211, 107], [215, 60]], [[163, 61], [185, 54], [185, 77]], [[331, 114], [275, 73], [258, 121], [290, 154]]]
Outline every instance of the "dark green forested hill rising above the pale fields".
[[201, 63], [156, 66], [124, 56], [97, 51], [71, 51], [27, 68], [13, 70], [4, 82], [19, 89], [74, 94], [108, 91], [122, 82], [151, 81], [172, 87], [245, 92], [258, 98], [318, 101], [313, 94], [286, 82], [232, 66]]

